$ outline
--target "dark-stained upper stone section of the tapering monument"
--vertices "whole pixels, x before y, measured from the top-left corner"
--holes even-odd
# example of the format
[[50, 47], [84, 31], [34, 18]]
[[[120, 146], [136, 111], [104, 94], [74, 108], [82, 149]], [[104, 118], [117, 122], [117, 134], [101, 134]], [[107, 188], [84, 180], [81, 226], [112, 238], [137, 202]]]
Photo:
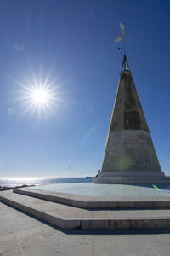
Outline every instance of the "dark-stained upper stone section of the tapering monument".
[[121, 130], [149, 131], [132, 75], [128, 71], [121, 75], [110, 126], [110, 132]]

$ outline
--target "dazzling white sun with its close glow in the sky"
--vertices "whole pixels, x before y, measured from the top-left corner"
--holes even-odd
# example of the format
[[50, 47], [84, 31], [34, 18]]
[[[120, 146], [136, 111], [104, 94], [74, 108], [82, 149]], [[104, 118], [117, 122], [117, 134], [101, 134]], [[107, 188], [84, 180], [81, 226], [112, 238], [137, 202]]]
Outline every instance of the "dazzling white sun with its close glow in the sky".
[[41, 118], [42, 114], [56, 116], [56, 109], [65, 102], [60, 90], [61, 85], [56, 84], [56, 79], [51, 80], [49, 75], [44, 79], [41, 77], [36, 79], [32, 76], [31, 81], [26, 79], [24, 82], [17, 81], [17, 83], [24, 89], [20, 90], [20, 97], [17, 99], [26, 106], [21, 117], [30, 111], [38, 114], [38, 118]]

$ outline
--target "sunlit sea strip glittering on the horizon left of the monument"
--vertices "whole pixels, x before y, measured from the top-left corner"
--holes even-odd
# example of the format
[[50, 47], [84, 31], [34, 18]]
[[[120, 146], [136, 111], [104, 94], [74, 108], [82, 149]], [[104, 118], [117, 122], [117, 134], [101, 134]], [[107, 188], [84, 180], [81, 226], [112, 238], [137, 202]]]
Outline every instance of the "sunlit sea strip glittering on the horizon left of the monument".
[[1, 178], [0, 187], [14, 188], [22, 185], [49, 185], [55, 183], [91, 183], [92, 177], [65, 178]]

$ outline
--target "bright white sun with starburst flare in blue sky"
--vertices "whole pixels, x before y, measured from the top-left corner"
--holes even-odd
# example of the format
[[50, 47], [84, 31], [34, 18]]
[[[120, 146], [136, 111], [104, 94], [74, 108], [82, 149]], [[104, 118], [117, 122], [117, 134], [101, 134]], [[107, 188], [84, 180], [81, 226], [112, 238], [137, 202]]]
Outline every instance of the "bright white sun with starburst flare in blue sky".
[[47, 76], [42, 76], [40, 73], [38, 76], [31, 71], [31, 76], [24, 80], [15, 80], [17, 85], [20, 85], [20, 89], [16, 90], [17, 96], [14, 101], [21, 102], [20, 107], [22, 113], [21, 119], [26, 113], [37, 115], [37, 119], [42, 119], [43, 116], [60, 118], [60, 109], [65, 108], [68, 101], [64, 99], [64, 91], [61, 90], [63, 82], [59, 78], [53, 77], [51, 71]]

